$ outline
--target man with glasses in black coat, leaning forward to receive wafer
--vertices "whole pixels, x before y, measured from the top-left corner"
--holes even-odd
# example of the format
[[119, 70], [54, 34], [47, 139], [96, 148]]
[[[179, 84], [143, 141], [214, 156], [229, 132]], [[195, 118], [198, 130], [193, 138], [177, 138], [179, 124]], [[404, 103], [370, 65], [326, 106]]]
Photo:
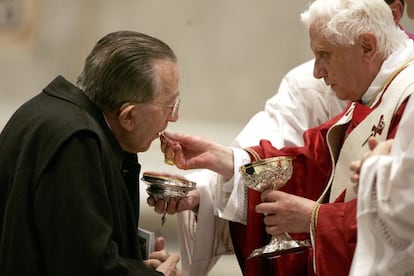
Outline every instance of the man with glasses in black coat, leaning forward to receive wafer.
[[177, 57], [157, 38], [100, 39], [0, 134], [0, 275], [179, 275], [164, 240], [137, 238], [137, 153], [178, 120]]

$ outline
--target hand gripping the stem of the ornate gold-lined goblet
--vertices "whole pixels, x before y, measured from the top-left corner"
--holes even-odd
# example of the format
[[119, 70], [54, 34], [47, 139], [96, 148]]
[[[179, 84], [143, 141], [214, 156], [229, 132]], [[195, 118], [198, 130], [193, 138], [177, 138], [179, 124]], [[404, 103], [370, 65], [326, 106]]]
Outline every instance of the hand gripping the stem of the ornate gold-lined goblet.
[[309, 232], [315, 201], [275, 190], [264, 191], [261, 199], [263, 202], [256, 205], [256, 212], [265, 214], [263, 222], [267, 233]]

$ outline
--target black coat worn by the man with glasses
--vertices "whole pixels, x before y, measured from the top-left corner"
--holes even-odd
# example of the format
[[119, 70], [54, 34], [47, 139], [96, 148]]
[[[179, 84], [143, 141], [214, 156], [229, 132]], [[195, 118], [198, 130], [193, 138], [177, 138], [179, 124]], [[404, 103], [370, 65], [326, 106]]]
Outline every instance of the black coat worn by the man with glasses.
[[12, 116], [0, 162], [0, 275], [162, 275], [137, 241], [137, 156], [64, 78]]

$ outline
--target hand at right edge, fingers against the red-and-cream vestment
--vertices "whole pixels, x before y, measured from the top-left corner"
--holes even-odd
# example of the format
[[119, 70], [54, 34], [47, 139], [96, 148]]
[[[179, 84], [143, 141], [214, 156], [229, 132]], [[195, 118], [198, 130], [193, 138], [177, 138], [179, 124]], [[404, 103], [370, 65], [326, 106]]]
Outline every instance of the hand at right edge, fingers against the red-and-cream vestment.
[[383, 142], [377, 141], [374, 137], [368, 139], [368, 145], [370, 151], [365, 153], [360, 160], [352, 161], [350, 165], [351, 181], [353, 183], [359, 182], [359, 173], [364, 161], [375, 155], [388, 155], [391, 152], [393, 139], [389, 139]]

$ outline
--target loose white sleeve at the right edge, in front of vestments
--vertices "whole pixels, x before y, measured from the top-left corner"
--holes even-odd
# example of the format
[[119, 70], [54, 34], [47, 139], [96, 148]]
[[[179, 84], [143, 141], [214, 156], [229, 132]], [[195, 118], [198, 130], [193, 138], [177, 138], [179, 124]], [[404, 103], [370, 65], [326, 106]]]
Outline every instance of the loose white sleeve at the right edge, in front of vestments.
[[413, 128], [414, 98], [406, 106], [390, 155], [363, 164], [352, 275], [414, 274]]

